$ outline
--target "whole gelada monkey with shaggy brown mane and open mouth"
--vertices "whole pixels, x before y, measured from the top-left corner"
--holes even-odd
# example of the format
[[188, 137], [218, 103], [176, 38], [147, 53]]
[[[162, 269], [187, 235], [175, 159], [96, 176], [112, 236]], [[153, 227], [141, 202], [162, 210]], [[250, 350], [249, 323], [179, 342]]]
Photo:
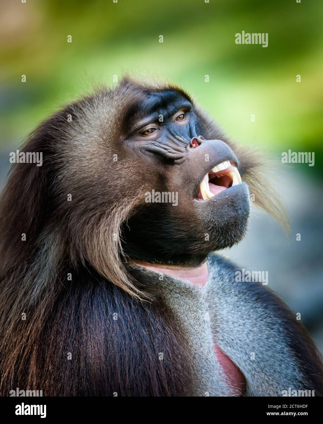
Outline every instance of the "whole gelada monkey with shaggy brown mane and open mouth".
[[250, 192], [287, 225], [262, 157], [186, 92], [124, 78], [22, 152], [42, 166], [15, 163], [1, 199], [2, 395], [322, 394], [300, 322], [212, 253], [244, 236]]

